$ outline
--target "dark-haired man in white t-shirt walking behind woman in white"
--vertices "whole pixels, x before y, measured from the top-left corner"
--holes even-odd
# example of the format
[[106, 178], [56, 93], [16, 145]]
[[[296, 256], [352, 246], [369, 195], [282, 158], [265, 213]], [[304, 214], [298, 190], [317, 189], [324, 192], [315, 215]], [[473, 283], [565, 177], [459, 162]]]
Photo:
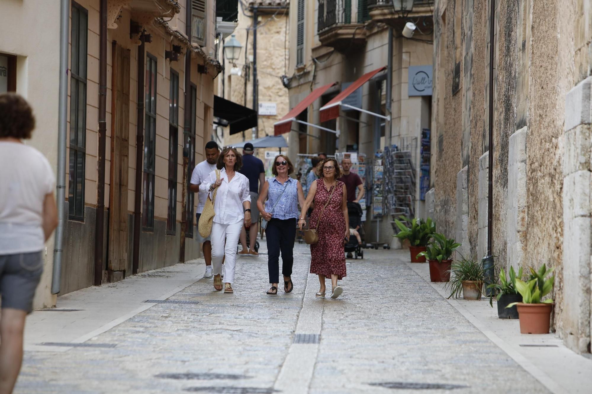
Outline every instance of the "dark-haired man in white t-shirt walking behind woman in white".
[[[197, 223], [200, 222], [201, 212], [204, 211], [205, 200], [208, 198], [207, 192], [200, 191], [200, 183], [204, 181], [210, 175], [212, 171], [216, 169], [216, 162], [220, 155], [220, 148], [214, 141], [210, 141], [205, 144], [205, 160], [198, 163], [191, 174], [191, 182], [189, 190], [194, 193], [198, 193], [198, 204], [197, 204]], [[212, 244], [210, 237], [203, 238], [200, 232], [197, 231], [197, 241], [202, 243], [202, 251], [204, 252], [205, 260], [205, 274], [204, 277], [213, 277], [212, 271]]]

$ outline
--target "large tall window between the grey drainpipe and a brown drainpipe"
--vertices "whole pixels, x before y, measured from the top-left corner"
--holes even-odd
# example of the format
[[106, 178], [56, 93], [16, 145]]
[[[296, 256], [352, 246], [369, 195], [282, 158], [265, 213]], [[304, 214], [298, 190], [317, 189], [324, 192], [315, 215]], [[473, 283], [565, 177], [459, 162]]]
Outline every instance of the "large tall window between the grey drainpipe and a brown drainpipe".
[[84, 220], [87, 32], [88, 11], [75, 2], [72, 2], [68, 216], [70, 219], [79, 221]]

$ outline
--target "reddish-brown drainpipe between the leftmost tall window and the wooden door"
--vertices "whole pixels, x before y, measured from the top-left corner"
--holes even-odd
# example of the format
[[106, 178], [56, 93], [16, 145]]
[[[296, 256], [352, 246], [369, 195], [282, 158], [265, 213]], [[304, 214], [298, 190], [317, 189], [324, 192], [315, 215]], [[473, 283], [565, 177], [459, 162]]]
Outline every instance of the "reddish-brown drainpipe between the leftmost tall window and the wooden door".
[[101, 28], [99, 32], [99, 152], [96, 166], [95, 286], [101, 285], [104, 269], [105, 141], [107, 140], [107, 0], [101, 0], [99, 17]]

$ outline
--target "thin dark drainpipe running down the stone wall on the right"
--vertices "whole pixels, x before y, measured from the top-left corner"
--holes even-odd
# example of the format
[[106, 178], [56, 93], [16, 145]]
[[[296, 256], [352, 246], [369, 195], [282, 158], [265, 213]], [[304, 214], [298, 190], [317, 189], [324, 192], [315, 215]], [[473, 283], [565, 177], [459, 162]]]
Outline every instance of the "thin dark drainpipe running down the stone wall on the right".
[[[490, 21], [490, 50], [489, 50], [489, 170], [488, 170], [488, 191], [487, 191], [487, 257], [483, 261], [485, 269], [485, 285], [494, 282], [494, 264], [493, 264], [493, 62], [494, 62], [494, 34], [496, 34], [496, 1], [491, 2], [491, 21]], [[486, 295], [490, 295], [492, 289], [486, 290]]]

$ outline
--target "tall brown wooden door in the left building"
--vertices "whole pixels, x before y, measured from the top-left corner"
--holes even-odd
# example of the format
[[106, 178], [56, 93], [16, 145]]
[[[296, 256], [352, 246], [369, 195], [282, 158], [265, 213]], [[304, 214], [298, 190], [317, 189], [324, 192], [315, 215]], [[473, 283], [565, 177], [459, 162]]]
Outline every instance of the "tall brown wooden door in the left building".
[[[113, 43], [112, 51], [108, 269], [110, 272], [124, 272], [128, 258], [127, 183], [130, 150], [130, 50], [123, 49], [117, 43]], [[118, 275], [117, 279], [123, 279], [123, 276]]]

